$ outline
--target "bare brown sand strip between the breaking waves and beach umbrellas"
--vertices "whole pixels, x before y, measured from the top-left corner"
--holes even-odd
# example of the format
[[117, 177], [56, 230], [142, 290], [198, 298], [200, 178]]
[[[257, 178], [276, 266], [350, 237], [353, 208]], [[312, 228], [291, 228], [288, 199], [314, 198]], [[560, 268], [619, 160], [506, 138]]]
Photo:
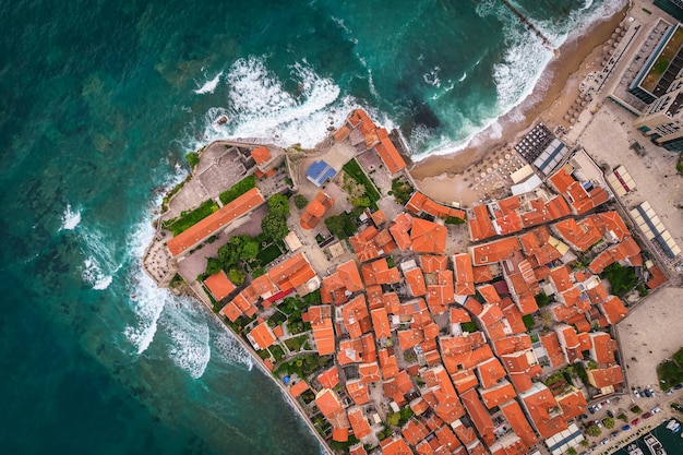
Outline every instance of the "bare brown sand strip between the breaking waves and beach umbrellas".
[[[543, 70], [534, 91], [518, 106], [500, 117], [495, 123], [478, 133], [465, 147], [447, 155], [429, 156], [416, 161], [410, 175], [428, 195], [448, 202], [443, 190], [446, 180], [455, 180], [459, 172], [482, 159], [504, 144], [516, 142], [531, 125], [543, 121], [551, 125], [563, 124], [561, 109], [571, 106], [576, 98], [578, 84], [585, 74], [597, 68], [600, 49], [614, 28], [627, 17], [632, 5], [626, 3], [612, 16], [589, 25], [578, 36], [568, 38], [558, 50], [556, 57]], [[594, 68], [595, 67], [595, 68]], [[522, 119], [519, 119], [522, 117]], [[496, 127], [498, 125], [498, 127]], [[493, 139], [491, 133], [500, 128], [502, 134]]]

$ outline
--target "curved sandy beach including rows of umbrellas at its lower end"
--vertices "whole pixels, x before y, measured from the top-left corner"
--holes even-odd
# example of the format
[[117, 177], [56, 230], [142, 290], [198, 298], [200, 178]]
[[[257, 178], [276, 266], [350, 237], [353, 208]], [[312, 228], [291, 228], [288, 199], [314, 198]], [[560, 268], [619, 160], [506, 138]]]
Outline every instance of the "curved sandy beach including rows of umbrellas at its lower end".
[[555, 58], [546, 68], [532, 94], [499, 119], [503, 130], [501, 137], [491, 139], [489, 128], [472, 140], [476, 145], [452, 155], [431, 156], [416, 163], [410, 173], [420, 190], [438, 201], [456, 201], [464, 205], [477, 202], [484, 192], [490, 196], [495, 195], [496, 188], [508, 182], [496, 182], [487, 176], [484, 180], [491, 180], [488, 187], [478, 184], [475, 188], [475, 179], [480, 172], [483, 177], [493, 165], [505, 166], [510, 170], [520, 167], [519, 159], [515, 159], [508, 146], [538, 121], [543, 121], [551, 131], [559, 125], [570, 127], [563, 116], [575, 103], [584, 77], [601, 69], [603, 47], [614, 29], [627, 17], [627, 11], [628, 5], [606, 21], [592, 24], [582, 35], [567, 39], [556, 50]]

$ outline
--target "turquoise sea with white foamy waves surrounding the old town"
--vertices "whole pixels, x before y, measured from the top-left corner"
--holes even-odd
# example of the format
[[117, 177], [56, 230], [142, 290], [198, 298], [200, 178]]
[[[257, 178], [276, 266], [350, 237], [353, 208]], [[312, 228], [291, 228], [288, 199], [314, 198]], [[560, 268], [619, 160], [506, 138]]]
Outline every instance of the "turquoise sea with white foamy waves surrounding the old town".
[[[621, 2], [514, 4], [559, 46]], [[355, 106], [453, 149], [552, 56], [499, 1], [12, 1], [0, 29], [0, 453], [21, 454], [320, 453], [141, 272], [160, 192], [212, 139], [314, 145]]]

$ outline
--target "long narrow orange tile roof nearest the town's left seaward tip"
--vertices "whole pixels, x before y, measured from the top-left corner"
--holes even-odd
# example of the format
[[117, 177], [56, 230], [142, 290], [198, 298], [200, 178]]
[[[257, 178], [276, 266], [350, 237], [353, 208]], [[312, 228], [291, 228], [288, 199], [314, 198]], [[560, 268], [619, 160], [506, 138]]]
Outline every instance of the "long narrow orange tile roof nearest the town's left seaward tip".
[[208, 215], [194, 226], [180, 232], [166, 243], [170, 254], [176, 258], [185, 251], [192, 250], [196, 244], [203, 242], [220, 229], [225, 229], [230, 223], [242, 215], [253, 211], [265, 200], [256, 188], [252, 188], [235, 201], [223, 206], [218, 212]]

